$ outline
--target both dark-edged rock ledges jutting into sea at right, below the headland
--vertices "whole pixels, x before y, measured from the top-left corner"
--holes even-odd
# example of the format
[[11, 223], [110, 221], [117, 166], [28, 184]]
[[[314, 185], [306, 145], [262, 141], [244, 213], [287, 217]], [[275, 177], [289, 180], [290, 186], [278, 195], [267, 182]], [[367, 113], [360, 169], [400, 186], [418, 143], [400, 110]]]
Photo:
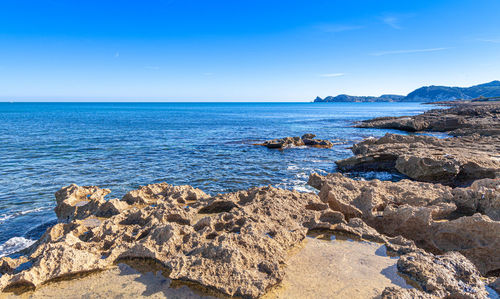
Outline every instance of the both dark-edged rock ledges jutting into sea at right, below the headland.
[[340, 171], [384, 170], [424, 182], [467, 186], [500, 177], [500, 102], [457, 102], [412, 117], [363, 121], [360, 128], [445, 132], [451, 138], [387, 134], [353, 146], [354, 157], [337, 161]]

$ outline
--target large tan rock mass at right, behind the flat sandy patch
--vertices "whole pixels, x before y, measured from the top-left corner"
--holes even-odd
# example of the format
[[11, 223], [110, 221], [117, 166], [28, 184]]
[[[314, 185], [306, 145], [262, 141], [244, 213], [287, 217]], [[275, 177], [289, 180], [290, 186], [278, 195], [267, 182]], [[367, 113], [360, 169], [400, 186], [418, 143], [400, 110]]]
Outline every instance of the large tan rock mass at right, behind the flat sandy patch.
[[379, 233], [404, 236], [432, 252], [458, 251], [483, 274], [500, 269], [500, 221], [479, 213], [457, 218], [457, 204], [477, 201], [476, 192], [496, 194], [491, 187], [497, 185], [492, 182], [452, 189], [409, 180], [355, 181], [338, 173], [323, 178], [314, 175], [311, 181], [321, 185], [321, 200], [348, 220], [361, 218]]

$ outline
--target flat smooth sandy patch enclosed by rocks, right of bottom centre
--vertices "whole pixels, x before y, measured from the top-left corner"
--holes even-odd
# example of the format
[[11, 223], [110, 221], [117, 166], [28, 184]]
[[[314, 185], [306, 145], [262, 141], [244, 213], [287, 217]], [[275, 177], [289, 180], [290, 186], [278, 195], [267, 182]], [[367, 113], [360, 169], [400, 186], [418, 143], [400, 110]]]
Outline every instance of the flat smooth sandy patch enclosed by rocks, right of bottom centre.
[[397, 258], [385, 245], [335, 239], [307, 238], [285, 269], [285, 278], [265, 299], [375, 298], [386, 287], [412, 288], [397, 273]]

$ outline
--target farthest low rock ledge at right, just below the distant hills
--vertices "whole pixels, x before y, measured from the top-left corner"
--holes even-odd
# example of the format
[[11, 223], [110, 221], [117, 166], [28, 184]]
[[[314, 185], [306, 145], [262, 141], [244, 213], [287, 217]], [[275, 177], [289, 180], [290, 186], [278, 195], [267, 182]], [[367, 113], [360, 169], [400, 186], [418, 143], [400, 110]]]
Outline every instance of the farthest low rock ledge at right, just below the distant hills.
[[396, 129], [408, 132], [447, 132], [452, 136], [500, 135], [500, 102], [449, 102], [451, 108], [433, 109], [415, 116], [379, 117], [358, 128]]

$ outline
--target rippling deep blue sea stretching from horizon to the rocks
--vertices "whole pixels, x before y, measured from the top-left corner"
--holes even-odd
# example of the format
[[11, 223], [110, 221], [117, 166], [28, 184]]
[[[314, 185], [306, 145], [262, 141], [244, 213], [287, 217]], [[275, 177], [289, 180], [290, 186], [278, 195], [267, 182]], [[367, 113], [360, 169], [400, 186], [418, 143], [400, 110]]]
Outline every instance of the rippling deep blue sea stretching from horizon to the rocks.
[[[433, 108], [420, 103], [0, 103], [0, 256], [55, 223], [54, 192], [99, 185], [108, 198], [166, 181], [215, 194], [274, 185], [307, 191], [353, 143], [390, 130], [355, 121]], [[332, 149], [253, 143], [315, 133]], [[369, 174], [365, 174], [369, 175]]]

